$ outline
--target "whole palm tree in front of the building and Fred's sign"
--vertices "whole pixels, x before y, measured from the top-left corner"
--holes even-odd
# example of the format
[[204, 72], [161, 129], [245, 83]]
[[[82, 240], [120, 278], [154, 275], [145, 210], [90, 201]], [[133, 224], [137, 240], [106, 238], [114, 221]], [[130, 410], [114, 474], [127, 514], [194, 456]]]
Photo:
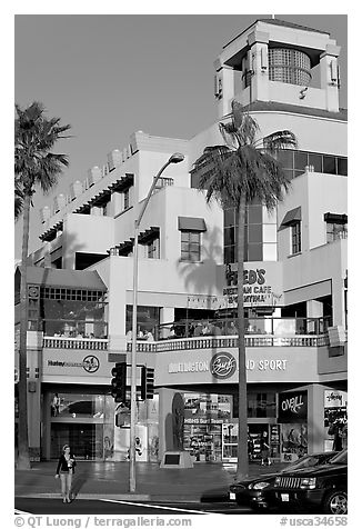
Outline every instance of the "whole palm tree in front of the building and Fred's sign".
[[239, 439], [238, 479], [248, 476], [248, 407], [247, 369], [243, 307], [243, 261], [245, 207], [254, 200], [268, 210], [275, 208], [288, 191], [290, 181], [274, 158], [279, 149], [296, 147], [296, 139], [289, 130], [281, 130], [257, 138], [258, 122], [238, 101], [232, 111], [220, 122], [219, 129], [225, 144], [207, 147], [194, 162], [199, 174], [199, 188], [205, 189], [205, 199], [219, 201], [223, 207], [233, 207], [239, 218], [238, 230], [238, 332], [239, 332]]

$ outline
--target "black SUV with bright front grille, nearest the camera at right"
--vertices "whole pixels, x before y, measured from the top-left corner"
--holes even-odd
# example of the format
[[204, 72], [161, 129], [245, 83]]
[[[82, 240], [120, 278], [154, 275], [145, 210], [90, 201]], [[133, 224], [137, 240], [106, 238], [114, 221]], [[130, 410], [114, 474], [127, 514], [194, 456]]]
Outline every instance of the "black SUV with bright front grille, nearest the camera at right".
[[265, 489], [268, 503], [293, 512], [348, 513], [346, 449], [320, 467], [283, 472]]

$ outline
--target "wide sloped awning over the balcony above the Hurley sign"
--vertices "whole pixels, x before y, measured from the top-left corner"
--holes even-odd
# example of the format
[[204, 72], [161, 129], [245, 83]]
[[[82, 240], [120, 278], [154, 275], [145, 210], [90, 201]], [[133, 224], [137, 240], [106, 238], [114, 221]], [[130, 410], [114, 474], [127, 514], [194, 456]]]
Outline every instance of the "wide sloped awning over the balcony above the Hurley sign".
[[27, 283], [41, 285], [42, 287], [107, 291], [105, 285], [95, 270], [66, 270], [58, 268], [27, 267]]

